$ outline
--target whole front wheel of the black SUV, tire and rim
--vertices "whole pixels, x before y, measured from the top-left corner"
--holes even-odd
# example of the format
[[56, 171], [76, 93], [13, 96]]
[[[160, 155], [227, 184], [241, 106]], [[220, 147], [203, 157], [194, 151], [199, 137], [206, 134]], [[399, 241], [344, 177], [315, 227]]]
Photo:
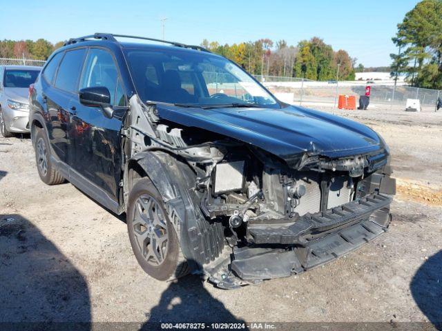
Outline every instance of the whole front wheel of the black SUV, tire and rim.
[[160, 192], [150, 179], [133, 186], [126, 215], [133, 253], [144, 272], [160, 281], [189, 273]]

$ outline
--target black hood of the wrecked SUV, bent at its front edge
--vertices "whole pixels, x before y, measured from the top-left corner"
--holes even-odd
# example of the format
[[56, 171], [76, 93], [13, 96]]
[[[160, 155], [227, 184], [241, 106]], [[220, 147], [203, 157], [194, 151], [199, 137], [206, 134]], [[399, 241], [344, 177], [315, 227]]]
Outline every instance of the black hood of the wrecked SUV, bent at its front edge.
[[286, 160], [304, 152], [347, 157], [381, 148], [378, 135], [367, 126], [297, 106], [204, 110], [157, 105], [157, 112], [163, 119], [251, 143]]

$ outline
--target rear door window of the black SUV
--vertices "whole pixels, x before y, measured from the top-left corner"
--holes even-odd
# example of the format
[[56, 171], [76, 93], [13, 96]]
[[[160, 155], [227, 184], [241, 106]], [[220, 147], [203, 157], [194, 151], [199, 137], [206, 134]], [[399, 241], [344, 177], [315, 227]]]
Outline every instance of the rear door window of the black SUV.
[[78, 79], [83, 66], [85, 48], [66, 52], [55, 78], [55, 87], [68, 92], [77, 92]]

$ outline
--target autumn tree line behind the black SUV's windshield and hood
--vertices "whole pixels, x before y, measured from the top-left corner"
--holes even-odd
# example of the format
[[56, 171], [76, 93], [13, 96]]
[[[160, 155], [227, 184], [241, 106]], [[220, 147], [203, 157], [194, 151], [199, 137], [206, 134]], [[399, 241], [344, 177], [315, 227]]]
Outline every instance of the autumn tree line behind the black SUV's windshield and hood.
[[354, 80], [354, 65], [347, 51], [334, 51], [323, 39], [313, 37], [297, 46], [280, 40], [259, 39], [242, 43], [220, 45], [204, 39], [201, 46], [238, 63], [251, 74], [298, 77], [318, 81], [336, 79], [339, 66], [340, 80]]

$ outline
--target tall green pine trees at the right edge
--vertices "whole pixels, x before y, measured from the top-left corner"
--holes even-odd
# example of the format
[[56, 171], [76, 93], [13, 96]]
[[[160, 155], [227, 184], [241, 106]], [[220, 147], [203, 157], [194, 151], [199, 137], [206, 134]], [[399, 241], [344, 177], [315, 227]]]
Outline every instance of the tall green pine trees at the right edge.
[[412, 86], [442, 89], [442, 0], [423, 0], [405, 14], [392, 38], [398, 47], [392, 75], [405, 74]]

